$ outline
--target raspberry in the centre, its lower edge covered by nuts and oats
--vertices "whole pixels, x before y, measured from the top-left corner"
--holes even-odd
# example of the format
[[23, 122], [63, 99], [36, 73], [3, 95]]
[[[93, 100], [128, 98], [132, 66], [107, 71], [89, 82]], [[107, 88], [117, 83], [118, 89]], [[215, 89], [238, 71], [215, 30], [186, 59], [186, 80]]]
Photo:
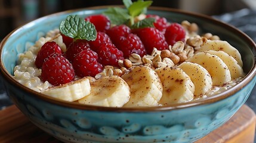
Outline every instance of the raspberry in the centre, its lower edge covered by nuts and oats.
[[136, 53], [143, 57], [146, 54], [146, 49], [143, 43], [137, 35], [129, 34], [127, 37], [121, 36], [119, 47], [122, 52], [124, 52], [124, 58], [128, 58], [132, 53]]

